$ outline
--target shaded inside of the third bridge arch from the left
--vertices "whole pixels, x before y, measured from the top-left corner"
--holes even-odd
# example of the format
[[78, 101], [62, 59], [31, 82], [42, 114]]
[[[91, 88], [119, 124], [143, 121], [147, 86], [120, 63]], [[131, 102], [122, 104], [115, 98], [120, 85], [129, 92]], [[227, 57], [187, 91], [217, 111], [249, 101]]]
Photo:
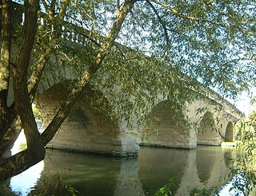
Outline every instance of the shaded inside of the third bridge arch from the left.
[[198, 127], [198, 144], [202, 145], [220, 145], [221, 135], [218, 132], [214, 121], [214, 115], [206, 112]]

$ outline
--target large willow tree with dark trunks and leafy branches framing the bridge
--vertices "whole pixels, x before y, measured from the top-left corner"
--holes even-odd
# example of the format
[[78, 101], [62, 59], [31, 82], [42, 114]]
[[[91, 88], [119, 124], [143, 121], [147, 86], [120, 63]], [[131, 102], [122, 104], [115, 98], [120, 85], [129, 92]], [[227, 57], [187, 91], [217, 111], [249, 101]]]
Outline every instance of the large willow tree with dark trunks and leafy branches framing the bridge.
[[[134, 108], [146, 114], [143, 100], [154, 102], [156, 91], [182, 110], [186, 101], [195, 98], [193, 89], [200, 91], [194, 79], [218, 87], [227, 96], [236, 96], [255, 85], [255, 4], [253, 0], [25, 0], [25, 21], [20, 32], [11, 28], [14, 18], [10, 8], [15, 4], [2, 0], [0, 157], [14, 142], [20, 126], [28, 148], [0, 160], [0, 179], [10, 178], [43, 159], [44, 147], [82, 89], [91, 82], [100, 82], [104, 72], [109, 75], [103, 87], [122, 82], [114, 101], [122, 100], [121, 111], [126, 111], [128, 117]], [[43, 18], [45, 24], [39, 24], [38, 18]], [[13, 33], [21, 33], [22, 37], [16, 37], [20, 44], [14, 63], [10, 53]], [[71, 45], [72, 51], [63, 47], [62, 35], [67, 33], [84, 37], [82, 45]], [[138, 55], [134, 56], [133, 49], [140, 51]], [[34, 53], [39, 55], [30, 65]], [[77, 68], [80, 80], [40, 135], [31, 102], [51, 53], [74, 56], [76, 65], [81, 65]], [[8, 105], [10, 79], [14, 80], [14, 102]], [[130, 96], [134, 96], [133, 103]]]

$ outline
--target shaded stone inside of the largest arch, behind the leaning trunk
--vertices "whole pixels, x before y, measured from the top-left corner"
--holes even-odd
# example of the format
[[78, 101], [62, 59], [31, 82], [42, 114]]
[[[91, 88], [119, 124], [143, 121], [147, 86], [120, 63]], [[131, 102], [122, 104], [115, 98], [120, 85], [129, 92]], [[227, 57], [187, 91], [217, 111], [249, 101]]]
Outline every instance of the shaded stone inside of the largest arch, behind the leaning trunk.
[[[58, 108], [70, 92], [66, 83], [54, 84], [39, 94], [35, 100], [44, 119], [44, 127], [58, 112]], [[86, 88], [78, 97], [78, 101], [70, 110], [60, 130], [48, 147], [68, 151], [90, 151], [118, 155], [121, 151], [119, 128], [106, 115], [94, 108], [92, 99], [101, 98], [102, 107], [110, 109], [110, 104], [95, 88]], [[102, 104], [103, 103], [103, 104]], [[105, 105], [104, 105], [105, 103]], [[109, 108], [108, 108], [109, 107]]]

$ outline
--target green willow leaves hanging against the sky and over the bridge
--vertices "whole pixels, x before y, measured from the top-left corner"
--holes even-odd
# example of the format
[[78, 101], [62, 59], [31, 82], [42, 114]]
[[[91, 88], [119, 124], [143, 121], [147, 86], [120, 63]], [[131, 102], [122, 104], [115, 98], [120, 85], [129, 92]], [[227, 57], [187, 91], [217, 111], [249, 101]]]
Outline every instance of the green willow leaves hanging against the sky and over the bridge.
[[[245, 4], [238, 1], [151, 3], [158, 15], [147, 1], [136, 2], [119, 33], [118, 42], [123, 45], [114, 45], [97, 76], [90, 80], [94, 88], [104, 89], [107, 100], [111, 100], [114, 107], [108, 111], [97, 106], [100, 112], [125, 120], [135, 115], [145, 124], [148, 112], [158, 103], [156, 94], [162, 94], [172, 100], [175, 115], [182, 114], [184, 103], [196, 98], [190, 89], [205, 93], [203, 88], [198, 88], [196, 80], [190, 80], [183, 73], [212, 88], [218, 87], [226, 96], [236, 96], [249, 88], [254, 76], [248, 73], [254, 73], [254, 61], [248, 60], [249, 54], [244, 47], [250, 40], [249, 53], [254, 53], [255, 20], [250, 13], [254, 12], [251, 9], [255, 6], [253, 1]], [[90, 65], [96, 55], [95, 49], [102, 44], [102, 35], [109, 31], [114, 20], [115, 6], [114, 1], [76, 1], [70, 5], [66, 19], [78, 27], [86, 26], [86, 30], [63, 25], [64, 37], [77, 33], [78, 42], [82, 43], [82, 46], [70, 45], [69, 49], [58, 45], [68, 58], [66, 65], [78, 73]], [[246, 23], [248, 20], [250, 25]], [[246, 30], [241, 31], [241, 28]], [[167, 33], [162, 33], [164, 29]], [[237, 33], [239, 37], [234, 39]], [[101, 100], [99, 103], [101, 105]]]

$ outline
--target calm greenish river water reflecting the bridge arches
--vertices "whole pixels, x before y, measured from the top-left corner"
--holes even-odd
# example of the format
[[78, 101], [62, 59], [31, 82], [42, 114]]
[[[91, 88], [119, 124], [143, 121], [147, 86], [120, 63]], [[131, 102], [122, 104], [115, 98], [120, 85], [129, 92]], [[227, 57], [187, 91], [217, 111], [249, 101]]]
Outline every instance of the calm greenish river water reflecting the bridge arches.
[[51, 195], [66, 186], [78, 195], [140, 196], [154, 195], [171, 179], [174, 195], [189, 195], [194, 187], [232, 195], [225, 186], [231, 164], [230, 147], [141, 147], [137, 159], [47, 150], [46, 159], [11, 178], [10, 187], [22, 195]]

